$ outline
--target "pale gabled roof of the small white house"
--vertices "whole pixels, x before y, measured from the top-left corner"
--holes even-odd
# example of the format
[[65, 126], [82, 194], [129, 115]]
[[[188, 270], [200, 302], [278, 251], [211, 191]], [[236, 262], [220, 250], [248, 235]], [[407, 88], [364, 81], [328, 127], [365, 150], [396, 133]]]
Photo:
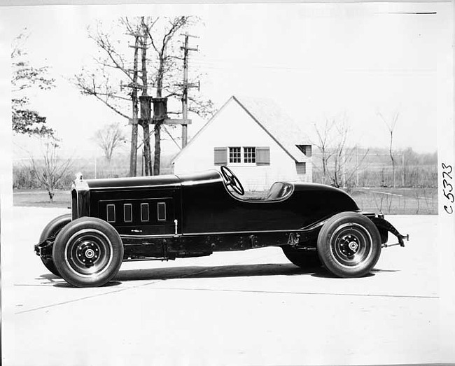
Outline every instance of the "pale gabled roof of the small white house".
[[[195, 134], [190, 143], [197, 140], [197, 136], [201, 134], [207, 126], [216, 118], [218, 113], [221, 113], [225, 106], [231, 101], [236, 102], [283, 150], [290, 155], [296, 162], [305, 162], [308, 158], [297, 148], [296, 145], [310, 145], [308, 137], [300, 127], [295, 123], [272, 99], [252, 98], [252, 97], [236, 97], [232, 96], [226, 101], [223, 106], [212, 116], [212, 118]], [[187, 145], [187, 146], [188, 146]], [[172, 159], [172, 162], [185, 151], [186, 148]]]

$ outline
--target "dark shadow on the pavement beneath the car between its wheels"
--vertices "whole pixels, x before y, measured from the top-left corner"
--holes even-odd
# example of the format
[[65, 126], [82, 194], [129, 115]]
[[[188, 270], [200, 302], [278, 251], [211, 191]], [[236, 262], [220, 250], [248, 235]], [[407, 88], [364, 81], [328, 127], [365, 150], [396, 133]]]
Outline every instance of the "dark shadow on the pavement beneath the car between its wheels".
[[262, 264], [262, 265], [225, 265], [225, 266], [191, 266], [167, 267], [153, 269], [120, 270], [114, 277], [117, 281], [162, 280], [162, 279], [210, 279], [219, 277], [249, 277], [249, 276], [295, 276], [314, 274], [322, 271], [318, 268], [300, 268], [292, 264]]

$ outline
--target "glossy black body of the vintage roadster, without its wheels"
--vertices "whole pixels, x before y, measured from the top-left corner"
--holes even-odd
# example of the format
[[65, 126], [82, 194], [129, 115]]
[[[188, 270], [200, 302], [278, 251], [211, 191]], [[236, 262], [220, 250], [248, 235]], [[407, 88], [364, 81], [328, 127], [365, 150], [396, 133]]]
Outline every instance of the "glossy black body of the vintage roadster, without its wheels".
[[[360, 212], [346, 192], [313, 183], [275, 183], [272, 197], [239, 197], [216, 171], [181, 176], [75, 181], [72, 219], [101, 218], [120, 234], [124, 260], [174, 259], [262, 246], [316, 249], [325, 220]], [[387, 228], [378, 225], [381, 241]], [[109, 217], [111, 216], [111, 217]], [[384, 220], [385, 221], [385, 220]]]

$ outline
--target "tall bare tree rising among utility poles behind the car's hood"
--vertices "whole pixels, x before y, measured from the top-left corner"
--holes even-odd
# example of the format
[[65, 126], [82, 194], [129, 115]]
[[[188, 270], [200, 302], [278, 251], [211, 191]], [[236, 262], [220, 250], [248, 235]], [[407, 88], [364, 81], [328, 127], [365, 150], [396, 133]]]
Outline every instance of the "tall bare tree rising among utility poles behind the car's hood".
[[[117, 36], [114, 31], [106, 31], [101, 23], [96, 29], [89, 31], [89, 36], [98, 45], [100, 54], [95, 59], [96, 67], [92, 71], [83, 69], [76, 75], [75, 84], [83, 94], [96, 97], [107, 107], [111, 108], [124, 118], [137, 120], [139, 110], [137, 91], [142, 95], [155, 94], [156, 97], [181, 97], [181, 50], [179, 48], [180, 32], [197, 22], [197, 18], [190, 16], [181, 17], [123, 17], [118, 24], [123, 28], [122, 34]], [[118, 31], [117, 24], [117, 31]], [[125, 56], [128, 41], [125, 33], [134, 37], [134, 62], [133, 69]], [[131, 38], [129, 38], [131, 39]], [[139, 70], [138, 50], [141, 50], [141, 69]], [[148, 52], [147, 50], [151, 50]], [[138, 74], [141, 74], [140, 78]], [[126, 81], [125, 81], [126, 80]], [[132, 101], [133, 113], [128, 112]], [[213, 104], [198, 97], [190, 97], [190, 111], [204, 115], [211, 113]], [[169, 111], [179, 114], [181, 112]], [[153, 174], [160, 174], [161, 155], [161, 125], [155, 125], [150, 132], [148, 124], [142, 123], [144, 136], [144, 150], [146, 151], [146, 167], [151, 154], [149, 136], [155, 133], [155, 159]], [[132, 141], [135, 141], [134, 122]], [[137, 125], [136, 125], [137, 128]], [[132, 143], [133, 143], [132, 142]], [[133, 148], [133, 146], [132, 146]], [[135, 169], [134, 169], [135, 170]], [[151, 170], [151, 169], [150, 169]], [[135, 171], [134, 171], [135, 174]]]

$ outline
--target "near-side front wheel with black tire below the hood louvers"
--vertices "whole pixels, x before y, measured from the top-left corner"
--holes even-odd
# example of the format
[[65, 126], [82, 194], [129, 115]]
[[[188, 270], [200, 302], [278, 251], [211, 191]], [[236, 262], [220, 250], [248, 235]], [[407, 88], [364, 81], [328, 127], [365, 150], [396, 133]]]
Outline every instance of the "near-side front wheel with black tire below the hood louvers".
[[62, 278], [71, 285], [102, 286], [122, 265], [122, 239], [104, 220], [78, 218], [59, 232], [52, 257]]

